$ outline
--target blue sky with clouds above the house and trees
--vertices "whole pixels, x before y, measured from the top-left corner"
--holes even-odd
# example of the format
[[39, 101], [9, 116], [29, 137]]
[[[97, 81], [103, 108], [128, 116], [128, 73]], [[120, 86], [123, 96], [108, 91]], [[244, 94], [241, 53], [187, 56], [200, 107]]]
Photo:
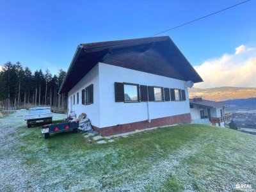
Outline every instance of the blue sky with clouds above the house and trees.
[[[0, 0], [0, 66], [57, 74], [81, 43], [152, 36], [242, 1]], [[251, 0], [158, 36], [170, 36], [204, 79], [196, 87], [255, 87], [255, 8]]]

